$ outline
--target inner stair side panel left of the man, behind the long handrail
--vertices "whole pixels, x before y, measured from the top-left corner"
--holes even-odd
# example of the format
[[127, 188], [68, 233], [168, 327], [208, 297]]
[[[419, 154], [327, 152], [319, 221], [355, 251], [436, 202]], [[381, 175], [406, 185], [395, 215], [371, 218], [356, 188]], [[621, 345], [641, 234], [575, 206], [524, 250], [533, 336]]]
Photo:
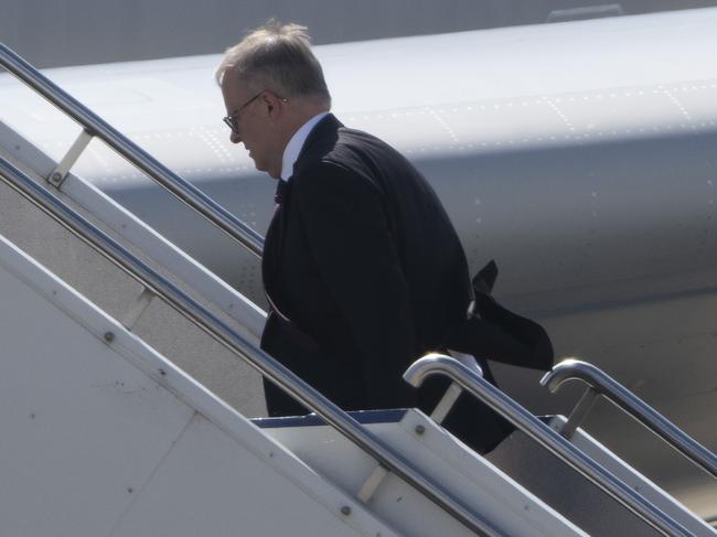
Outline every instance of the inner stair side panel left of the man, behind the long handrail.
[[[89, 149], [92, 143], [100, 142], [94, 140]], [[52, 187], [43, 176], [51, 173], [55, 162], [1, 121], [0, 154], [188, 291], [248, 341], [258, 344], [265, 313], [257, 305], [84, 179], [69, 174], [62, 191]], [[146, 181], [151, 183], [149, 179]], [[165, 195], [171, 197], [169, 193]], [[179, 201], [175, 203], [182, 205]], [[189, 208], [182, 208], [190, 213]], [[191, 216], [202, 218], [195, 214]], [[212, 226], [206, 224], [206, 227]], [[128, 312], [142, 291], [141, 286], [2, 182], [0, 235], [60, 275], [115, 319], [127, 323]], [[236, 248], [242, 250], [238, 245]], [[260, 374], [161, 300], [152, 300], [137, 324], [128, 323], [127, 326], [240, 412], [266, 415]]]

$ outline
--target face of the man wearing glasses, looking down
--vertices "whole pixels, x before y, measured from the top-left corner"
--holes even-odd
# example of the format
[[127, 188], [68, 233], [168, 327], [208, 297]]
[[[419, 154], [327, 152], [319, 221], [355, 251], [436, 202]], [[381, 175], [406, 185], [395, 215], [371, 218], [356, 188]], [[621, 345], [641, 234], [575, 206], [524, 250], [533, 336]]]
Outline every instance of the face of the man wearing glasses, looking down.
[[257, 170], [272, 178], [281, 173], [283, 149], [276, 136], [275, 117], [266, 103], [261, 88], [254, 93], [243, 85], [235, 73], [227, 71], [222, 79], [222, 95], [227, 116], [234, 118], [238, 132], [232, 131], [232, 143], [243, 142]]

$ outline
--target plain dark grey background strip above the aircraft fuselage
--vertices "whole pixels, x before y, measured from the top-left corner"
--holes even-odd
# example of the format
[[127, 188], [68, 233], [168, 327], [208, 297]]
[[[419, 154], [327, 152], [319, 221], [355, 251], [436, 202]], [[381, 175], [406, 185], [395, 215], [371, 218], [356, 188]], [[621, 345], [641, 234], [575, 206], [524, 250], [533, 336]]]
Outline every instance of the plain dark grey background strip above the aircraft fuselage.
[[220, 53], [270, 17], [322, 44], [537, 24], [590, 6], [630, 15], [717, 0], [0, 0], [0, 41], [50, 67]]

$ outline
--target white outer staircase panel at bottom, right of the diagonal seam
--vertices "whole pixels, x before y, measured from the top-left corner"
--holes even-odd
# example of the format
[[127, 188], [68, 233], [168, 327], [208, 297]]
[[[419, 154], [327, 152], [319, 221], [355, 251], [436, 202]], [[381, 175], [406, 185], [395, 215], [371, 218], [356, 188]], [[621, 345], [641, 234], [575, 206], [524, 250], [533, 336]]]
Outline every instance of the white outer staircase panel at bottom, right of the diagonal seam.
[[394, 535], [379, 526], [374, 533], [351, 528], [353, 508], [345, 522], [338, 519], [340, 496], [318, 512], [314, 498], [296, 494], [279, 472], [237, 464], [234, 443], [197, 415], [111, 537]]

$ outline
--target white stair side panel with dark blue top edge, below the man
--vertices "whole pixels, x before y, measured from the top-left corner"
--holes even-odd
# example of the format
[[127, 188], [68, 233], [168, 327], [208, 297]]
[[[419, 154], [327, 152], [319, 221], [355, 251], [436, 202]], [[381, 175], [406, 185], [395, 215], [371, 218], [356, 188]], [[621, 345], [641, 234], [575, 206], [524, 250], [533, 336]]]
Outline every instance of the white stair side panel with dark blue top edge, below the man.
[[[407, 410], [399, 421], [366, 427], [477, 516], [490, 520], [500, 535], [587, 535], [419, 410]], [[267, 427], [266, 431], [349, 494], [357, 494], [376, 468], [364, 452], [323, 425]], [[390, 473], [370, 503], [405, 535], [473, 535]]]

